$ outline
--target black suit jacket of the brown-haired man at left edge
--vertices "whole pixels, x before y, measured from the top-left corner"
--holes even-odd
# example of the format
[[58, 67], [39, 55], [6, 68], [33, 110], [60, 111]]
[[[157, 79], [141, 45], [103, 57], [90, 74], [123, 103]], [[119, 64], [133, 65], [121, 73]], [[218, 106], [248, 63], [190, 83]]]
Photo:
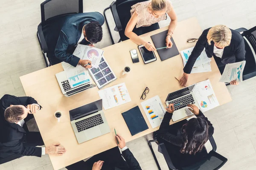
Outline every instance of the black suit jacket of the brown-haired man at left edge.
[[[13, 155], [41, 157], [41, 147], [23, 146], [23, 136], [26, 135], [23, 127], [16, 123], [9, 123], [4, 118], [4, 111], [10, 105], [26, 106], [33, 103], [38, 104], [32, 97], [16, 97], [8, 94], [0, 99], [0, 162]], [[26, 122], [32, 118], [33, 115], [28, 114], [24, 120]]]

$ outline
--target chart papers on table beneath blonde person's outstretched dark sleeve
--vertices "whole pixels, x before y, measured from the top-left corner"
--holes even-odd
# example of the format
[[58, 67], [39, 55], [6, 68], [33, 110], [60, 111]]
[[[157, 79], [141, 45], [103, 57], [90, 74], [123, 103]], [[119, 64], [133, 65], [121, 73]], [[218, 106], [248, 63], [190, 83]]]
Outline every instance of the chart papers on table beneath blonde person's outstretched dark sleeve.
[[[193, 49], [194, 47], [191, 47], [186, 50], [180, 51], [184, 66], [186, 65]], [[211, 59], [207, 57], [205, 50], [203, 50], [200, 56], [196, 59], [195, 64], [191, 70], [191, 73], [202, 73], [202, 72], [212, 71], [210, 62], [211, 62]]]

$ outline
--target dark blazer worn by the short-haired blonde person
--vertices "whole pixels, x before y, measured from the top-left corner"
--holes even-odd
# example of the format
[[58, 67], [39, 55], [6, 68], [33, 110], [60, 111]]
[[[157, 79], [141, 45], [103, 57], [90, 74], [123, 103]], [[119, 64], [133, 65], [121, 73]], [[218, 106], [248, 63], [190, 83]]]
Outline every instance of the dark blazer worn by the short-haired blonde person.
[[[184, 73], [190, 74], [195, 60], [200, 56], [201, 52], [205, 48], [205, 52], [207, 57], [211, 58], [213, 55], [213, 47], [214, 42], [211, 41], [211, 45], [207, 42], [207, 34], [210, 28], [203, 31], [201, 36], [196, 42], [195, 48], [193, 49], [191, 55], [189, 56], [188, 62], [186, 63], [185, 67], [183, 68]], [[245, 45], [244, 45], [244, 38], [238, 31], [230, 29], [232, 33], [230, 45], [224, 48], [223, 55], [221, 57], [221, 62], [223, 64], [233, 63], [233, 62], [240, 62], [244, 61], [245, 59]]]

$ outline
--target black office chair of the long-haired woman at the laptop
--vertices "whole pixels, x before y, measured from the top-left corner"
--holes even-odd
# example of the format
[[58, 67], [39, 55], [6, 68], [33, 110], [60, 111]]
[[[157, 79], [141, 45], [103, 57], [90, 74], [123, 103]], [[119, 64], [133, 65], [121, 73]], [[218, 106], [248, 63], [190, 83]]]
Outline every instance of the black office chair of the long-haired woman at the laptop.
[[158, 152], [163, 154], [163, 157], [166, 160], [166, 163], [170, 170], [218, 170], [227, 162], [227, 158], [215, 152], [217, 149], [217, 146], [213, 137], [210, 137], [209, 141], [212, 145], [212, 150], [207, 154], [207, 156], [204, 159], [202, 159], [200, 162], [195, 162], [195, 164], [192, 164], [189, 167], [182, 167], [181, 169], [177, 169], [173, 165], [172, 160], [169, 156], [168, 151], [166, 150], [166, 146], [164, 143], [158, 144], [157, 139], [153, 139], [148, 141], [148, 146], [151, 150], [151, 153], [153, 154], [154, 160], [156, 161], [156, 164], [159, 170], [161, 170], [161, 168], [157, 161], [157, 157], [154, 153], [154, 150], [152, 148], [152, 145], [151, 145], [152, 142], [157, 143]]

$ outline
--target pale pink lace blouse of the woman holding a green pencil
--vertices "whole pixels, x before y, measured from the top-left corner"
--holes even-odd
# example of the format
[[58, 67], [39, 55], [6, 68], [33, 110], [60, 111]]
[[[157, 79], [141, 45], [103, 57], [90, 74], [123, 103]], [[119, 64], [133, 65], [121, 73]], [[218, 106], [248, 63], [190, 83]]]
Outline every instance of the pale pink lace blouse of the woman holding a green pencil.
[[[135, 5], [131, 6], [131, 15], [136, 12], [138, 14], [138, 21], [136, 23], [136, 28], [141, 26], [151, 26], [154, 23], [158, 23], [159, 21], [166, 20], [166, 14], [161, 15], [159, 18], [154, 17], [150, 14], [147, 10], [148, 4], [151, 0], [136, 3]], [[166, 13], [172, 10], [172, 3], [169, 0], [166, 0], [167, 3], [167, 10]]]

